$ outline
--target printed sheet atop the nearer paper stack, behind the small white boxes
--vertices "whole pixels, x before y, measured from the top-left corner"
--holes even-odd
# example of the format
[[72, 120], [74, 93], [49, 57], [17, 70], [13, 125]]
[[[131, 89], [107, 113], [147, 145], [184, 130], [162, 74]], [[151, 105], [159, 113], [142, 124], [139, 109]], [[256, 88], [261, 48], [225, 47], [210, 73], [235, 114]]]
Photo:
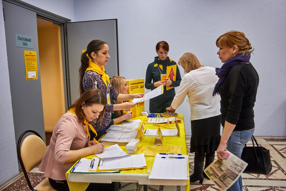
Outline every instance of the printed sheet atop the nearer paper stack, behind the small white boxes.
[[100, 141], [113, 141], [113, 142], [129, 142], [135, 139], [138, 131], [133, 131], [130, 133], [106, 133]]

